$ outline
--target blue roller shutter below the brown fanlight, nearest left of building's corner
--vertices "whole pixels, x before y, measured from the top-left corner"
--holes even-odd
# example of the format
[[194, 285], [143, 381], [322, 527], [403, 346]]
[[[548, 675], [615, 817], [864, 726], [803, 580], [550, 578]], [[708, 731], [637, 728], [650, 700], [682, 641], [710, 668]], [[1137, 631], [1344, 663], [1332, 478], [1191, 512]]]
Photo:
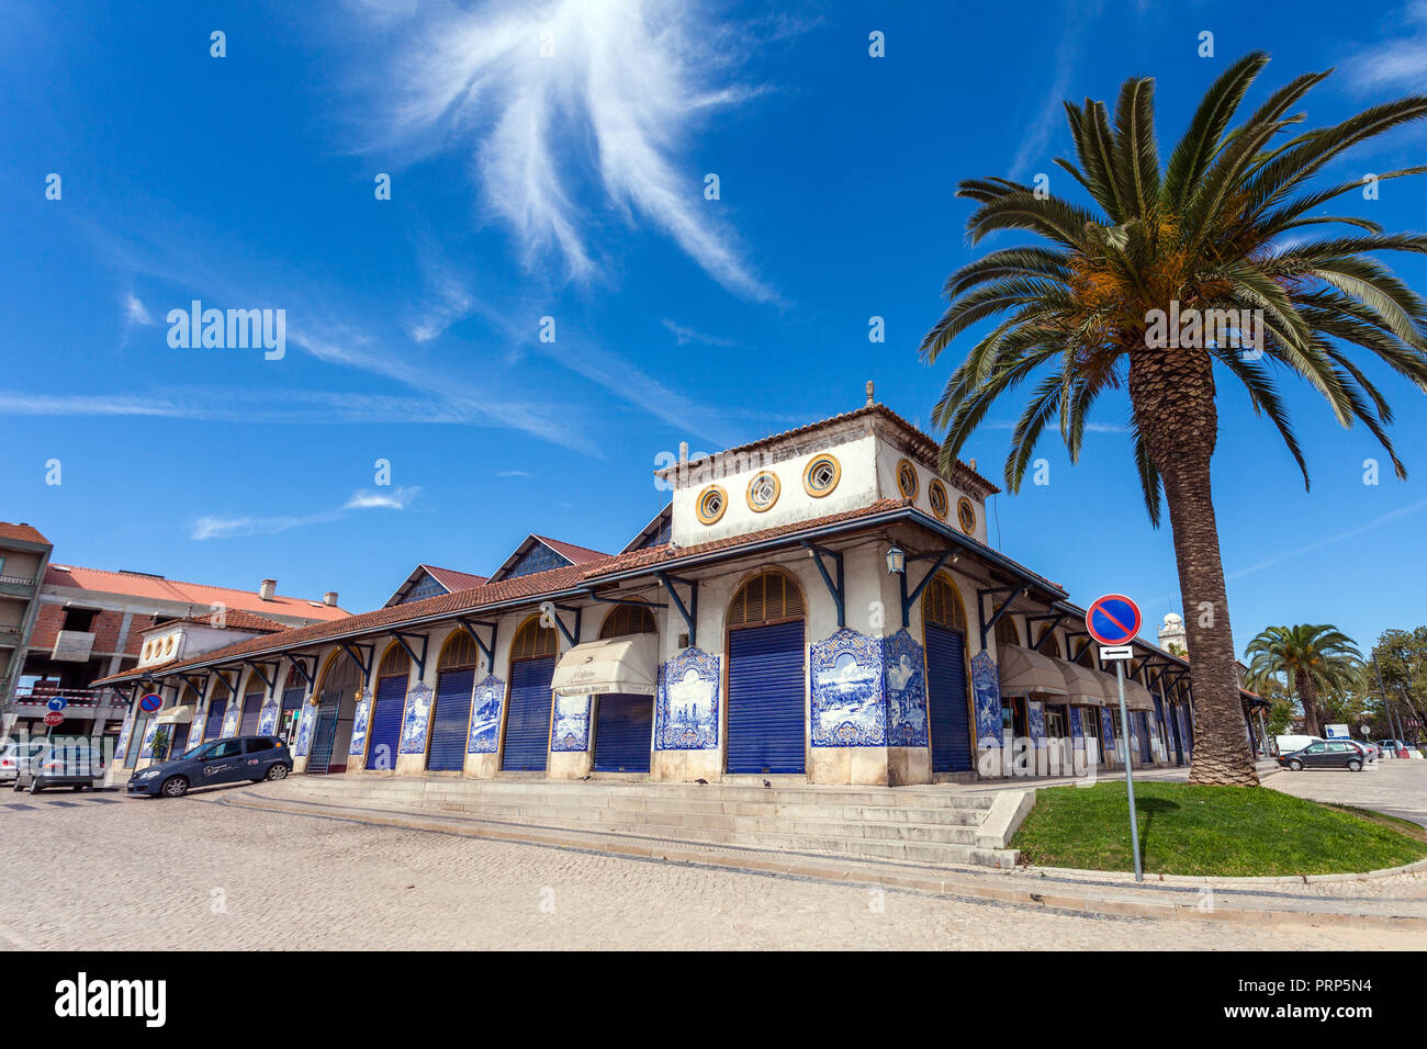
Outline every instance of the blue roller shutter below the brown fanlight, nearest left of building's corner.
[[803, 624], [728, 635], [728, 771], [803, 772]]

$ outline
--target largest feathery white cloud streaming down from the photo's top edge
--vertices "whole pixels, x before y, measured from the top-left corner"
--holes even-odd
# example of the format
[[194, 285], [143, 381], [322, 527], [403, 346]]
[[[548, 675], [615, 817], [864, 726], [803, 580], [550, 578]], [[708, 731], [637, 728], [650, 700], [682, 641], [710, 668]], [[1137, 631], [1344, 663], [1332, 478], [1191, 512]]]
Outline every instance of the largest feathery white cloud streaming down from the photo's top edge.
[[[392, 10], [375, 9], [390, 40]], [[731, 291], [771, 300], [682, 157], [689, 128], [755, 90], [711, 86], [736, 53], [698, 6], [676, 0], [497, 0], [438, 9], [398, 51], [390, 137], [469, 148], [484, 203], [528, 265], [547, 254], [569, 273], [599, 268], [585, 216], [648, 220]]]

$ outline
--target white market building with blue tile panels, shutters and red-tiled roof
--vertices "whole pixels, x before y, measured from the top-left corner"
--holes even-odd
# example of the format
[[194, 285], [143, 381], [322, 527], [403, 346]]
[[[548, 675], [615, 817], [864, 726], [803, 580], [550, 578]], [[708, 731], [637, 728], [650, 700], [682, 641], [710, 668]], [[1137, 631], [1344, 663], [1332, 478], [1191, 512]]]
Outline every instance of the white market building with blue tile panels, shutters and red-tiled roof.
[[375, 611], [97, 684], [191, 708], [188, 748], [285, 718], [308, 774], [902, 785], [1113, 768], [1123, 744], [1187, 762], [1184, 659], [1136, 639], [1122, 724], [1083, 608], [990, 544], [997, 488], [938, 457], [869, 384], [835, 418], [682, 450], [618, 554], [529, 535], [484, 582], [422, 565]]

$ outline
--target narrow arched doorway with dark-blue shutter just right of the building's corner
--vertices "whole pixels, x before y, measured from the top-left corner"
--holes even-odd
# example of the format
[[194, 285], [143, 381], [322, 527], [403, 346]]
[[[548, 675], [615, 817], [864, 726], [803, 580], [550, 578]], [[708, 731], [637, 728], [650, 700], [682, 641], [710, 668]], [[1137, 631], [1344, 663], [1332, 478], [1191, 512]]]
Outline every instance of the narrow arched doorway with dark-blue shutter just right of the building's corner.
[[932, 772], [972, 768], [970, 704], [966, 689], [966, 609], [956, 587], [938, 575], [922, 594], [926, 635], [928, 728]]

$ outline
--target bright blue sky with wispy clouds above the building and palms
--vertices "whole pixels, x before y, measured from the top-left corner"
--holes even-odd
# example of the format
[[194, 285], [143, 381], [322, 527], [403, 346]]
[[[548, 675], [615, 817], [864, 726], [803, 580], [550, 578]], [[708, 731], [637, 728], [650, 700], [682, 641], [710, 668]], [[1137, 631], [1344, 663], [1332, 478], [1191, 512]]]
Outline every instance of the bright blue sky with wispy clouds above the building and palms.
[[[642, 7], [9, 3], [0, 518], [37, 525], [63, 562], [275, 577], [352, 609], [418, 561], [491, 571], [529, 531], [614, 551], [665, 501], [651, 470], [681, 440], [715, 451], [846, 411], [869, 378], [926, 424], [958, 348], [929, 368], [918, 341], [946, 274], [987, 247], [966, 244], [955, 183], [1056, 173], [1060, 98], [1153, 74], [1167, 151], [1247, 50], [1274, 57], [1250, 101], [1339, 67], [1307, 100], [1313, 126], [1427, 83], [1421, 0], [1350, 17], [1321, 1]], [[1427, 128], [1407, 128], [1327, 177], [1424, 150]], [[1420, 230], [1424, 190], [1346, 200]], [[1420, 258], [1388, 261], [1427, 288]], [[167, 313], [195, 298], [285, 310], [285, 357], [170, 347]], [[1406, 482], [1364, 485], [1371, 437], [1289, 382], [1306, 494], [1222, 384], [1240, 649], [1269, 624], [1370, 644], [1421, 621], [1427, 412], [1367, 370], [1397, 405]], [[1019, 407], [966, 450], [993, 478]], [[1043, 444], [1050, 484], [997, 497], [992, 535], [1082, 602], [1140, 598], [1153, 624], [1179, 588], [1127, 411], [1102, 401], [1076, 467]]]

